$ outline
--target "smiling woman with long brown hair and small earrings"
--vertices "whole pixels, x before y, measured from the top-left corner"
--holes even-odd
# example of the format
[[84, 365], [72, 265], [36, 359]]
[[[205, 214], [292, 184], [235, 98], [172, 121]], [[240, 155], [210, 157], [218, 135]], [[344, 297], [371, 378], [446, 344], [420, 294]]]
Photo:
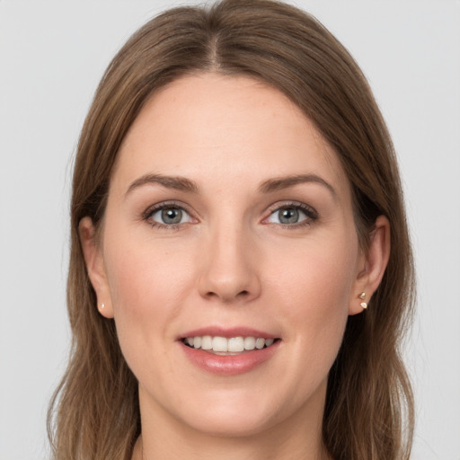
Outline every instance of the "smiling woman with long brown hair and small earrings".
[[55, 458], [408, 458], [412, 293], [392, 143], [341, 44], [266, 0], [166, 12], [78, 146]]

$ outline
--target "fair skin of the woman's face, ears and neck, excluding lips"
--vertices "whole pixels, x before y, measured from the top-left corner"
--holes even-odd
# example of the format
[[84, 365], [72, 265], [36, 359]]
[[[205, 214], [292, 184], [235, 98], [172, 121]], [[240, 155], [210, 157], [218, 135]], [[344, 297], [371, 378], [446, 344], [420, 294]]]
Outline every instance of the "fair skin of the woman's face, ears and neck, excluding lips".
[[[146, 174], [197, 190], [139, 185]], [[315, 180], [261, 190], [299, 174]], [[149, 211], [172, 201], [181, 223], [158, 226], [161, 212]], [[296, 223], [280, 221], [283, 206], [299, 211]], [[139, 382], [134, 459], [329, 458], [328, 372], [349, 314], [362, 312], [358, 295], [368, 301], [383, 276], [389, 226], [379, 217], [361, 251], [349, 181], [295, 104], [243, 76], [168, 85], [120, 148], [102, 242], [89, 217], [80, 234], [101, 314], [115, 319]], [[279, 347], [250, 372], [216, 376], [177, 340], [209, 325], [270, 332]]]

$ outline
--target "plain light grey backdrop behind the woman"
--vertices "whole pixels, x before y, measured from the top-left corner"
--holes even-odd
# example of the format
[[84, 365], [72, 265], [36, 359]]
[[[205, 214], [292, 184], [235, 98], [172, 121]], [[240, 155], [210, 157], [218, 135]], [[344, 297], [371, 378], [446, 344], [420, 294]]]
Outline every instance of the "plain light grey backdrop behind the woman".
[[[0, 0], [0, 460], [48, 455], [47, 405], [69, 345], [69, 182], [85, 113], [117, 49], [173, 4]], [[419, 279], [405, 349], [413, 458], [459, 460], [460, 2], [295, 4], [358, 60], [394, 137]]]

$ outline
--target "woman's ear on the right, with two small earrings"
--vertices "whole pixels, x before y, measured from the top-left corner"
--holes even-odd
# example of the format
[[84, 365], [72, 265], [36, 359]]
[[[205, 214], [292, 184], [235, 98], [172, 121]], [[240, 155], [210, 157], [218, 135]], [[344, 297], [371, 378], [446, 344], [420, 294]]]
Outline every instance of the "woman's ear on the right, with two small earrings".
[[[363, 252], [359, 261], [361, 270], [358, 271], [349, 302], [349, 314], [361, 313], [363, 311], [361, 303], [368, 304], [371, 296], [376, 292], [390, 258], [390, 245], [390, 223], [385, 216], [379, 216], [370, 234], [367, 252]], [[359, 295], [363, 292], [366, 293], [366, 297], [361, 299]]]

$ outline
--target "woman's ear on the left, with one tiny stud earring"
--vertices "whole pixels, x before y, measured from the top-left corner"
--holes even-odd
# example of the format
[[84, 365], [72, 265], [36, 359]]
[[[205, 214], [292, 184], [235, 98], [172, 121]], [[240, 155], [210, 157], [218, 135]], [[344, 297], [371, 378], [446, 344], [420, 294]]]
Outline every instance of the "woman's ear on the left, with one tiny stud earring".
[[88, 277], [97, 296], [97, 308], [102, 316], [113, 318], [111, 291], [105, 273], [102, 248], [100, 243], [96, 241], [96, 232], [90, 217], [84, 217], [80, 221], [78, 233], [80, 234]]

